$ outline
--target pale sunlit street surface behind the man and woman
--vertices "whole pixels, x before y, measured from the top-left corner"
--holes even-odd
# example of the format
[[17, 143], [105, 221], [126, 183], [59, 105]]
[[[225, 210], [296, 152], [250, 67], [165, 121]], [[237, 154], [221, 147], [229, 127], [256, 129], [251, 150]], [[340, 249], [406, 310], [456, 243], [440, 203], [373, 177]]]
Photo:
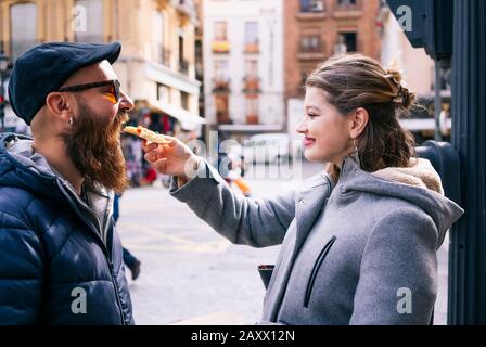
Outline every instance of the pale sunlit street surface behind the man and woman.
[[[304, 164], [302, 177], [319, 166]], [[292, 189], [297, 178], [248, 180], [254, 197]], [[120, 200], [118, 231], [124, 246], [142, 261], [129, 286], [137, 324], [253, 324], [260, 318], [265, 288], [260, 264], [274, 264], [279, 247], [231, 245], [161, 184], [128, 190]], [[439, 252], [435, 323], [446, 323], [447, 250]]]

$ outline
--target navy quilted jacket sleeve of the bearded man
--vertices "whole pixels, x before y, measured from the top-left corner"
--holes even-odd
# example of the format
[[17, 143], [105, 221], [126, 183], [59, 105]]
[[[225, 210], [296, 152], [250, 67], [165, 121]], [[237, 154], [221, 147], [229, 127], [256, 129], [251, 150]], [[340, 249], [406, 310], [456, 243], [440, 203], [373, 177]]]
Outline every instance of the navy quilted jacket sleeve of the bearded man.
[[35, 324], [43, 282], [42, 246], [20, 218], [0, 211], [0, 324]]

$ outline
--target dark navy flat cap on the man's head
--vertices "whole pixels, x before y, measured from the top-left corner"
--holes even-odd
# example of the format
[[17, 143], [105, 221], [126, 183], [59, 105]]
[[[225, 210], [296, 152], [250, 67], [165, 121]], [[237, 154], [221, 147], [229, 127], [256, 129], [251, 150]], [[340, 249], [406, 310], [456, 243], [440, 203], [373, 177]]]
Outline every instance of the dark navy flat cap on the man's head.
[[113, 64], [120, 51], [119, 42], [51, 42], [34, 47], [13, 66], [9, 81], [12, 110], [30, 125], [47, 95], [59, 90], [76, 70], [104, 60]]

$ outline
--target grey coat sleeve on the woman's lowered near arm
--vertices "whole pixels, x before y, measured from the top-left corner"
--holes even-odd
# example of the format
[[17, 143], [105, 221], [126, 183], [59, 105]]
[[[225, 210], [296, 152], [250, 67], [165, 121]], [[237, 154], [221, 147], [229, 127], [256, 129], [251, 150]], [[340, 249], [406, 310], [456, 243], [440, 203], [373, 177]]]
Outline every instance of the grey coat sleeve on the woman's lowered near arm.
[[417, 209], [381, 218], [364, 246], [350, 324], [426, 325], [437, 296], [437, 228]]

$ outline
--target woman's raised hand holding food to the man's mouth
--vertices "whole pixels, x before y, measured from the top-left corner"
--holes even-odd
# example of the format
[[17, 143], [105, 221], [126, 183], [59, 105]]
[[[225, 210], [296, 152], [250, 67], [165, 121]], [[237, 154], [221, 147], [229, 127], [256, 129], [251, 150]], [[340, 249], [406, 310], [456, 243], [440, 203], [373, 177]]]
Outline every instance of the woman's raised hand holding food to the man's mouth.
[[165, 138], [170, 143], [158, 144], [143, 140], [145, 160], [152, 164], [159, 174], [176, 176], [190, 181], [197, 171], [201, 158], [180, 140], [167, 136]]

